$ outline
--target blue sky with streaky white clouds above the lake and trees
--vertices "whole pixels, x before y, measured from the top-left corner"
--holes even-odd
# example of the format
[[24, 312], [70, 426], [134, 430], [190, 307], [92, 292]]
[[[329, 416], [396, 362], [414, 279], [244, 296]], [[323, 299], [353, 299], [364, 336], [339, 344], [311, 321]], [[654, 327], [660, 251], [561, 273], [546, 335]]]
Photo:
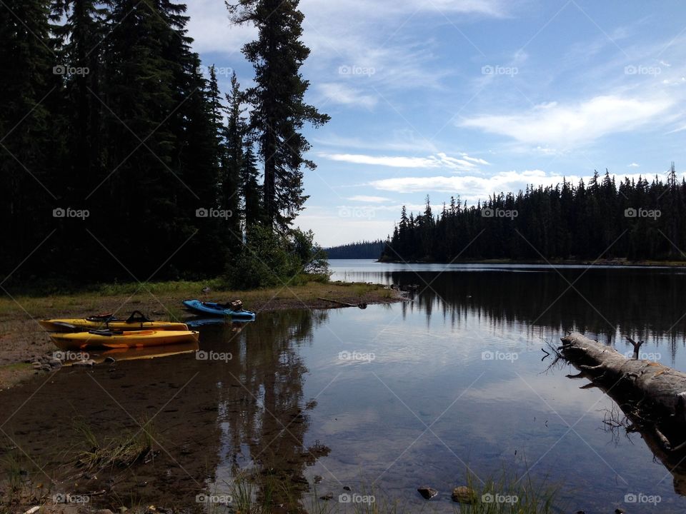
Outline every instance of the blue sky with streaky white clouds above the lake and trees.
[[[310, 195], [297, 224], [324, 246], [384, 238], [402, 205], [434, 212], [597, 169], [665, 176], [686, 162], [682, 1], [302, 0]], [[222, 0], [189, 35], [224, 91], [252, 68]]]

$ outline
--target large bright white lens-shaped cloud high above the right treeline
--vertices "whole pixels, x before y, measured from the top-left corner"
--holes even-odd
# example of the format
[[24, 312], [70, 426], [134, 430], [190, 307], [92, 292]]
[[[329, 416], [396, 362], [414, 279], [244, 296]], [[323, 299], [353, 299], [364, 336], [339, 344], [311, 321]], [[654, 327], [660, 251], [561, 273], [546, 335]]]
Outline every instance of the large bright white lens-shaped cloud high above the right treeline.
[[462, 126], [502, 134], [522, 143], [570, 148], [610, 133], [631, 131], [654, 121], [673, 99], [595, 96], [579, 104], [540, 104], [520, 114], [490, 114], [464, 119]]

